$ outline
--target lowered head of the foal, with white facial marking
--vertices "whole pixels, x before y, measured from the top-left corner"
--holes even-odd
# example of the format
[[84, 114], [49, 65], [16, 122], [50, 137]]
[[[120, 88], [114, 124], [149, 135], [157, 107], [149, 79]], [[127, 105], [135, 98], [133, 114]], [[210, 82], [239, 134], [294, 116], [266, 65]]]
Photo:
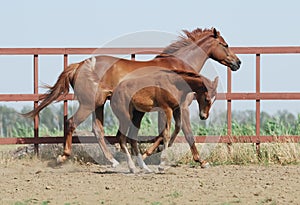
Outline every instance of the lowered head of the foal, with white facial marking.
[[201, 120], [206, 120], [209, 116], [209, 110], [216, 99], [218, 77], [213, 82], [204, 79], [203, 83], [206, 87], [205, 92], [196, 93], [196, 100], [199, 106], [199, 117]]

